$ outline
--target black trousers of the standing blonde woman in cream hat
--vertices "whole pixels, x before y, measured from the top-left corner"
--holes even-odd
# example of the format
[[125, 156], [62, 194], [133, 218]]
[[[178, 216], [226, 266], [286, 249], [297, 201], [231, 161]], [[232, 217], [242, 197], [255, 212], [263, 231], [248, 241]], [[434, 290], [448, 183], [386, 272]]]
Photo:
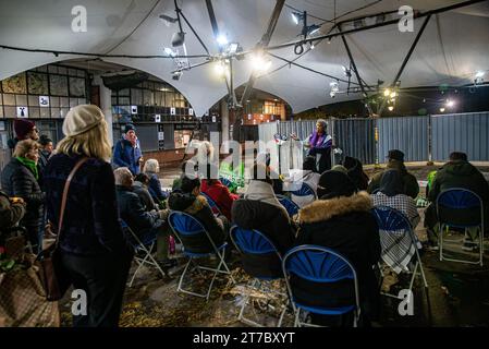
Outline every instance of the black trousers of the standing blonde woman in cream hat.
[[117, 327], [132, 254], [77, 256], [62, 253], [61, 261], [74, 288], [87, 294], [87, 314], [73, 315], [73, 327]]

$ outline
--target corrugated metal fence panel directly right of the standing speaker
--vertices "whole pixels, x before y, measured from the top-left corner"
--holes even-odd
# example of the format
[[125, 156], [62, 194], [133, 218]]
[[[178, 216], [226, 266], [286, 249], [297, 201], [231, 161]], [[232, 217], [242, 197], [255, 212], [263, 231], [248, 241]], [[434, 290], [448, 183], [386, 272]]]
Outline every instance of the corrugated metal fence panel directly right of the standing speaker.
[[[376, 160], [375, 149], [376, 120], [371, 119], [346, 119], [334, 120], [333, 139], [334, 144], [343, 151], [344, 156], [359, 159], [363, 164], [374, 164]], [[341, 159], [335, 159], [338, 164]]]

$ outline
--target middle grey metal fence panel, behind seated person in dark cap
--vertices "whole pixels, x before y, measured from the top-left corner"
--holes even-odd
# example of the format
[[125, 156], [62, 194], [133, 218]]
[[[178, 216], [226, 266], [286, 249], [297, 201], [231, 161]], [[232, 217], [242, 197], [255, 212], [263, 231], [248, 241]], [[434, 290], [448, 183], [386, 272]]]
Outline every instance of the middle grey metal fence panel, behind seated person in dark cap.
[[400, 149], [406, 161], [428, 159], [429, 117], [378, 119], [379, 163], [386, 163], [390, 149]]

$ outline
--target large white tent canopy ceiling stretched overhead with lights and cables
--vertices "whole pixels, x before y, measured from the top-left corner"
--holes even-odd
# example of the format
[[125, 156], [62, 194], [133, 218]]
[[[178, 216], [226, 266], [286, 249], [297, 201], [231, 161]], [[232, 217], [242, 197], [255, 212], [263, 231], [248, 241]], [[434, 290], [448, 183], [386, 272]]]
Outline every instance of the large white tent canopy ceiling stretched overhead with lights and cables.
[[[408, 4], [415, 10], [427, 11], [447, 7], [462, 0], [288, 0], [273, 33], [270, 45], [297, 39], [301, 26], [291, 21], [291, 7], [320, 19], [331, 20], [355, 9], [341, 20], [379, 12], [396, 11]], [[212, 0], [221, 33], [231, 41], [240, 43], [245, 50], [253, 49], [267, 27], [276, 1], [273, 0]], [[88, 22], [86, 33], [74, 33], [71, 24], [75, 15], [72, 8], [84, 5]], [[183, 13], [209, 48], [212, 55], [218, 46], [212, 37], [209, 15], [204, 0], [179, 0]], [[111, 55], [163, 55], [163, 47], [171, 47], [171, 36], [178, 24], [169, 24], [160, 14], [174, 16], [173, 1], [169, 0], [0, 0], [0, 45]], [[414, 33], [401, 33], [396, 25], [383, 26], [347, 35], [352, 55], [362, 77], [371, 85], [377, 80], [390, 84], [407, 53], [424, 19], [415, 21]], [[309, 17], [308, 24], [321, 21]], [[321, 27], [326, 34], [332, 24]], [[184, 25], [188, 55], [205, 55], [205, 50]], [[489, 70], [489, 1], [441, 13], [431, 17], [404, 73], [402, 87], [437, 86], [440, 84], [467, 84], [477, 71]], [[182, 51], [181, 51], [182, 53]], [[295, 59], [293, 47], [272, 53]], [[0, 49], [0, 80], [19, 72], [80, 56], [24, 52]], [[103, 58], [108, 62], [146, 71], [175, 86], [192, 104], [197, 115], [204, 112], [227, 95], [222, 80], [215, 74], [213, 64], [185, 71], [180, 81], [171, 80], [175, 69], [171, 59]], [[199, 63], [205, 59], [191, 59]], [[274, 71], [286, 63], [272, 58]], [[340, 37], [329, 44], [325, 40], [299, 58], [297, 63], [314, 70], [343, 77], [342, 65], [349, 65], [346, 50]], [[247, 82], [250, 74], [249, 59], [235, 63], [235, 86]], [[356, 82], [353, 76], [352, 80]], [[297, 67], [286, 67], [261, 76], [256, 88], [269, 92], [286, 100], [294, 112], [332, 101], [357, 99], [359, 95], [329, 96], [332, 80]], [[340, 89], [346, 85], [340, 83]]]

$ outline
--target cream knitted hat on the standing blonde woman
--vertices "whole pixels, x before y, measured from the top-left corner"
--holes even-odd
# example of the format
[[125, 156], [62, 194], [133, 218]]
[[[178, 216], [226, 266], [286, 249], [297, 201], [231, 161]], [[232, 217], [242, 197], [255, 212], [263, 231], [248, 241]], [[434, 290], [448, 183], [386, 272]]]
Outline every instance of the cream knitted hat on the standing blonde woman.
[[66, 113], [63, 133], [66, 136], [78, 135], [98, 127], [102, 120], [103, 113], [99, 107], [94, 105], [76, 106]]

